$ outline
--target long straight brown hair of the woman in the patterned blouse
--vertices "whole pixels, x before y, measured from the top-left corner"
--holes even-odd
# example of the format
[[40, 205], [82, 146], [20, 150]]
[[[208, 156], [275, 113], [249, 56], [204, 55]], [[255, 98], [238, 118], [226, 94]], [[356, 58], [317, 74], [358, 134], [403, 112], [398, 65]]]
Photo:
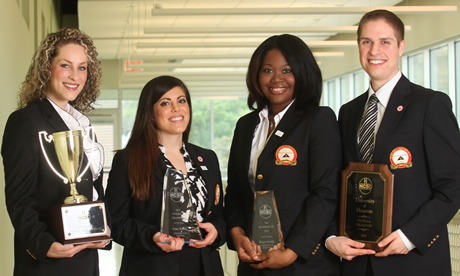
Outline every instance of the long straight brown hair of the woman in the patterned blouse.
[[144, 86], [139, 98], [133, 130], [126, 145], [129, 150], [129, 184], [133, 190], [132, 196], [139, 201], [145, 201], [155, 194], [153, 179], [160, 150], [157, 129], [153, 123], [154, 105], [174, 87], [184, 91], [190, 109], [190, 121], [182, 135], [182, 140], [187, 142], [192, 125], [192, 102], [187, 87], [180, 79], [172, 76], [156, 77]]

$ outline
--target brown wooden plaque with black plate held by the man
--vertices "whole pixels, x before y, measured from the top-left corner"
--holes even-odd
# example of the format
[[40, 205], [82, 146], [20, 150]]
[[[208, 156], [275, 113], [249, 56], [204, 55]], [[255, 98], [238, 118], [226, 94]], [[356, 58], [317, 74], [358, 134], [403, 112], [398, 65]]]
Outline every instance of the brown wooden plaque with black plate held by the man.
[[394, 175], [386, 164], [350, 162], [342, 171], [340, 235], [382, 251], [391, 233]]

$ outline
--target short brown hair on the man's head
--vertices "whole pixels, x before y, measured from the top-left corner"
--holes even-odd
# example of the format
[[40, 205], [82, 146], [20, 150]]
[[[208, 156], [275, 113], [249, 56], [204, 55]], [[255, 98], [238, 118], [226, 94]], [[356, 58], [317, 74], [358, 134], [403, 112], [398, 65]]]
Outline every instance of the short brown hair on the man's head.
[[384, 20], [391, 27], [393, 27], [399, 45], [399, 43], [404, 40], [404, 23], [398, 16], [396, 16], [396, 14], [387, 10], [373, 10], [363, 15], [358, 25], [358, 41], [361, 38], [361, 32], [363, 30], [364, 24], [369, 21], [379, 19]]

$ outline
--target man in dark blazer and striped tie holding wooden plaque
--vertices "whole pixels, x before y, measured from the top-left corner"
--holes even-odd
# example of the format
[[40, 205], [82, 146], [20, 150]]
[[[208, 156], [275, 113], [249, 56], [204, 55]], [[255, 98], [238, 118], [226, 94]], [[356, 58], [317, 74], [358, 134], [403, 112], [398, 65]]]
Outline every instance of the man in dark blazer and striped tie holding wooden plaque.
[[[344, 236], [332, 236], [326, 245], [343, 258], [345, 276], [451, 275], [446, 225], [460, 207], [460, 132], [452, 103], [446, 94], [413, 84], [399, 71], [404, 24], [393, 13], [365, 14], [358, 46], [371, 81], [369, 90], [339, 113], [343, 166], [388, 165], [394, 174], [393, 232], [379, 242], [385, 249], [378, 253]], [[373, 95], [377, 115], [366, 160], [358, 130]]]

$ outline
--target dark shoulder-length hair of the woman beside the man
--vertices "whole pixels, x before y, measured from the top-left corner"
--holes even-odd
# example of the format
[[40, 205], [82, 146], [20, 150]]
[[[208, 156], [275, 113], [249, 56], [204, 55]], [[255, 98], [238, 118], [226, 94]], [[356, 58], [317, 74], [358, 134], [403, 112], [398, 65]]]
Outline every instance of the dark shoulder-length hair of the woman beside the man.
[[[273, 49], [277, 49], [283, 54], [294, 74], [295, 108], [302, 109], [308, 104], [319, 105], [323, 78], [313, 53], [307, 44], [297, 36], [283, 34], [269, 37], [252, 54], [246, 75], [249, 108], [261, 110], [269, 103], [260, 90], [259, 73], [265, 56]], [[254, 103], [256, 103], [256, 107], [254, 107]]]

